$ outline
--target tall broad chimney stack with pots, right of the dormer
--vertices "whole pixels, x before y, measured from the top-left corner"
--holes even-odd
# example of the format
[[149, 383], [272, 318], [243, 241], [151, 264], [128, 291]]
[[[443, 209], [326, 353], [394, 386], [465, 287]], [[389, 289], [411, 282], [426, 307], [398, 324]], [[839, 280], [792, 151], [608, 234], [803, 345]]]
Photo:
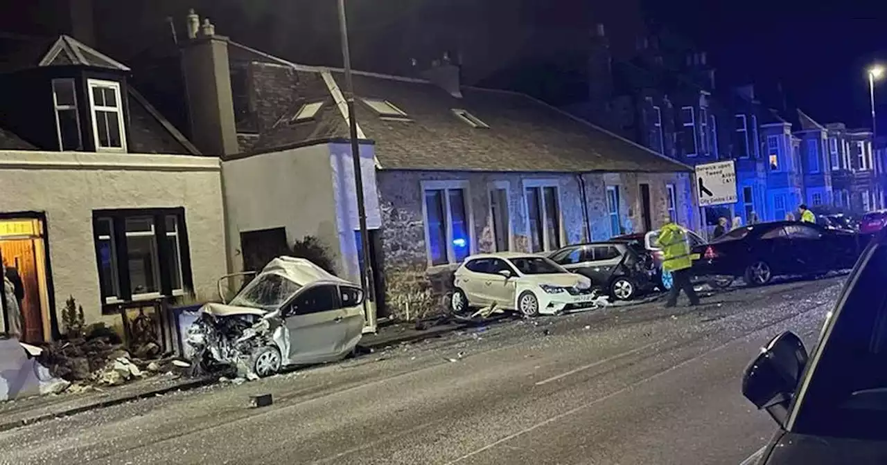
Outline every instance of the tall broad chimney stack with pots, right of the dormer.
[[191, 120], [191, 140], [207, 155], [239, 152], [228, 38], [216, 35], [216, 27], [191, 10], [188, 41], [182, 44], [182, 69]]

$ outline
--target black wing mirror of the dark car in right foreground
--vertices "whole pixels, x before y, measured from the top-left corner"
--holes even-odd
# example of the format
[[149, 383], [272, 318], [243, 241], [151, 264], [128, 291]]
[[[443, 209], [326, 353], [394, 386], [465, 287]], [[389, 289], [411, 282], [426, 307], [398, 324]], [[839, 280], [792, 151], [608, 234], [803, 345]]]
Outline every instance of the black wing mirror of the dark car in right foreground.
[[806, 365], [807, 351], [800, 337], [791, 331], [773, 337], [745, 368], [742, 395], [783, 426]]

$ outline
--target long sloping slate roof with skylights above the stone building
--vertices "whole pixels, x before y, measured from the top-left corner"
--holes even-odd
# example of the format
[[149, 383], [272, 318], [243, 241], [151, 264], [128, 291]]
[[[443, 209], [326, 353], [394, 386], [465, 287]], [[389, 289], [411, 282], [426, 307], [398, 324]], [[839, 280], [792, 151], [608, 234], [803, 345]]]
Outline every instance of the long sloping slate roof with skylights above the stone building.
[[[333, 73], [342, 88], [344, 76]], [[452, 97], [425, 81], [356, 74], [357, 121], [382, 169], [676, 172], [691, 168], [594, 128], [523, 94], [463, 88]], [[361, 98], [388, 100], [409, 120], [380, 118]], [[463, 109], [490, 128], [473, 128]], [[347, 135], [342, 135], [347, 136]]]

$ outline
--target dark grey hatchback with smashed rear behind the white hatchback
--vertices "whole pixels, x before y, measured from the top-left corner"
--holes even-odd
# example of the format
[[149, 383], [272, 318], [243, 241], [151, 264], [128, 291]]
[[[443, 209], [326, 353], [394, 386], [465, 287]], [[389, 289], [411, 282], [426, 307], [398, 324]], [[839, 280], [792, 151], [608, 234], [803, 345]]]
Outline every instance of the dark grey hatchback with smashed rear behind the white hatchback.
[[635, 240], [609, 240], [568, 245], [551, 252], [558, 265], [584, 275], [592, 286], [617, 300], [631, 300], [651, 291], [659, 272], [653, 254]]

